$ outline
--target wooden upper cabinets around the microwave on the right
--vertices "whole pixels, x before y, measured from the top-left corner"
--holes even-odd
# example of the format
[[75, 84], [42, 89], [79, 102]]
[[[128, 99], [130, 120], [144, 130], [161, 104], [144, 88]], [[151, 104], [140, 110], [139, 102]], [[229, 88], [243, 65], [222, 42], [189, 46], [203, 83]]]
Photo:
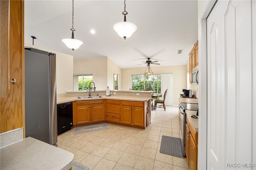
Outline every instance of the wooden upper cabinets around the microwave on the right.
[[198, 66], [198, 41], [194, 44], [194, 47], [189, 53], [189, 82], [192, 84], [192, 69]]

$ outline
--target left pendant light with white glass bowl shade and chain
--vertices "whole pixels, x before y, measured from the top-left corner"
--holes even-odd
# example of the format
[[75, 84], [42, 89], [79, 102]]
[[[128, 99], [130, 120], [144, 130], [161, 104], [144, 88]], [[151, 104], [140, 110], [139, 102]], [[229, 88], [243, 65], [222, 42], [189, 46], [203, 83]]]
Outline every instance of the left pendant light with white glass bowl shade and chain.
[[72, 12], [72, 28], [70, 29], [72, 31], [72, 36], [71, 38], [66, 38], [66, 39], [62, 39], [61, 41], [70, 49], [72, 49], [73, 51], [75, 49], [78, 49], [80, 47], [80, 45], [83, 44], [82, 41], [78, 40], [78, 39], [74, 39], [74, 31], [76, 31], [73, 27], [74, 25], [74, 0], [72, 0], [72, 4], [73, 4], [73, 12]]

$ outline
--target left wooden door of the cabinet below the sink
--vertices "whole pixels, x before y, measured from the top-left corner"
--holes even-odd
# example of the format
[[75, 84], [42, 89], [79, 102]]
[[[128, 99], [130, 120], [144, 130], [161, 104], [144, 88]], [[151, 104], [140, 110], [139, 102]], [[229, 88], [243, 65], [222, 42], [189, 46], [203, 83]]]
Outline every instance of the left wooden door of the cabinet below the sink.
[[76, 106], [76, 124], [90, 122], [90, 106]]

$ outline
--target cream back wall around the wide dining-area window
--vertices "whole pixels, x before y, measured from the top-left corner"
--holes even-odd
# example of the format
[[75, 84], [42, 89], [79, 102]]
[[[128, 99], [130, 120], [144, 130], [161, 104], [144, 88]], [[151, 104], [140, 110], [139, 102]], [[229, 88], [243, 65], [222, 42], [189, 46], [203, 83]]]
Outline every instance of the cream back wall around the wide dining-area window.
[[[122, 90], [129, 90], [129, 88], [132, 88], [132, 74], [144, 74], [145, 69], [146, 67], [122, 69]], [[186, 65], [152, 67], [152, 71], [154, 74], [173, 74], [173, 104], [178, 105], [178, 98], [180, 97], [180, 94], [183, 94], [182, 89], [187, 86]]]

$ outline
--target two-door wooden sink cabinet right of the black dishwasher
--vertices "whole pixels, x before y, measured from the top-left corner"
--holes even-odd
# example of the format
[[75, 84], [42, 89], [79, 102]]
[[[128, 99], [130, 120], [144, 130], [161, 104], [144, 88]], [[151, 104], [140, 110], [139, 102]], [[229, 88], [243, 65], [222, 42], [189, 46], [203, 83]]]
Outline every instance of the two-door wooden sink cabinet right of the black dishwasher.
[[73, 124], [104, 121], [104, 100], [73, 102]]

